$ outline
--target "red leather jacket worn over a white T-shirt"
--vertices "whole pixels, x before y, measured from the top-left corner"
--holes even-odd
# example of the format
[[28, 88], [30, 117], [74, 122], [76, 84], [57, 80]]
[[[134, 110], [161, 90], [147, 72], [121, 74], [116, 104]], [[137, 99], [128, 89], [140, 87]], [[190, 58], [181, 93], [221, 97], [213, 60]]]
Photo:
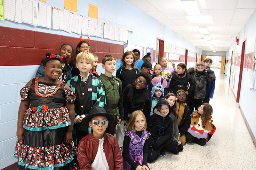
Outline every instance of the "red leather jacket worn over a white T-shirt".
[[[92, 133], [82, 138], [78, 145], [77, 160], [81, 170], [92, 170], [92, 163], [99, 147], [99, 139]], [[123, 157], [119, 145], [113, 135], [104, 133], [103, 149], [105, 151], [108, 167], [110, 170], [123, 170]]]

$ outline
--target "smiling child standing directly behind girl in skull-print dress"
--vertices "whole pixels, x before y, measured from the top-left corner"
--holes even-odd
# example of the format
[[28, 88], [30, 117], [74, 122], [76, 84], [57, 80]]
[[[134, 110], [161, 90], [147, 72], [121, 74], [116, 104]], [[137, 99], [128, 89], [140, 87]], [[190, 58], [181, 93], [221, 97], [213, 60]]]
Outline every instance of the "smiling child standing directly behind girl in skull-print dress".
[[[58, 80], [64, 81], [65, 83], [67, 83], [67, 81], [72, 78], [72, 74], [71, 74], [72, 68], [70, 68], [67, 62], [67, 59], [71, 58], [72, 52], [73, 52], [73, 47], [70, 44], [63, 44], [59, 50], [59, 55], [62, 56], [63, 59], [61, 60], [62, 73], [58, 78]], [[46, 53], [46, 57], [50, 55], [51, 53]], [[41, 61], [41, 64], [38, 70], [36, 71], [36, 77], [39, 77], [39, 78], [44, 77], [44, 70], [43, 70], [44, 59]]]

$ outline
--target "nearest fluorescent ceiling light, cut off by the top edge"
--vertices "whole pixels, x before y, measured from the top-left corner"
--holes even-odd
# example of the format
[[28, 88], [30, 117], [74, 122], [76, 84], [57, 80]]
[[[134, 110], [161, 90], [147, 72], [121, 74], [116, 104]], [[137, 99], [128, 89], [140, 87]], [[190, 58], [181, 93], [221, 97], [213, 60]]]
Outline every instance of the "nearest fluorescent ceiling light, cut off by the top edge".
[[180, 0], [181, 8], [188, 12], [188, 15], [200, 15], [201, 8], [198, 0]]

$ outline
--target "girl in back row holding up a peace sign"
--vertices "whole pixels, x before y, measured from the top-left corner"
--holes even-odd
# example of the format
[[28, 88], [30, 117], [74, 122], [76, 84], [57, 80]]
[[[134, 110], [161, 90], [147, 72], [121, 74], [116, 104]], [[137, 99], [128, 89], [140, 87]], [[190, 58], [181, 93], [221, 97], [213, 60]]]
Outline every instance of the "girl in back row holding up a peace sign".
[[175, 68], [175, 63], [172, 63], [172, 67], [168, 67], [168, 60], [166, 57], [161, 57], [160, 58], [160, 63], [162, 64], [162, 76], [166, 79], [167, 81], [167, 87], [170, 85], [170, 81], [172, 79], [172, 75], [176, 73], [176, 68]]

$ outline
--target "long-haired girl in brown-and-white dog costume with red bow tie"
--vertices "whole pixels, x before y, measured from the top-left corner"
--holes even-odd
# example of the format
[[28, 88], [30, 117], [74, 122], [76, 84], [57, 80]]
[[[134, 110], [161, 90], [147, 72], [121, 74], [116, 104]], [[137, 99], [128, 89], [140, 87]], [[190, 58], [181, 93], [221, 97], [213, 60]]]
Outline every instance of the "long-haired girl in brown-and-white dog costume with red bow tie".
[[191, 124], [187, 130], [186, 141], [205, 145], [216, 130], [212, 122], [212, 106], [203, 103], [191, 114]]

